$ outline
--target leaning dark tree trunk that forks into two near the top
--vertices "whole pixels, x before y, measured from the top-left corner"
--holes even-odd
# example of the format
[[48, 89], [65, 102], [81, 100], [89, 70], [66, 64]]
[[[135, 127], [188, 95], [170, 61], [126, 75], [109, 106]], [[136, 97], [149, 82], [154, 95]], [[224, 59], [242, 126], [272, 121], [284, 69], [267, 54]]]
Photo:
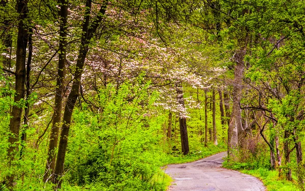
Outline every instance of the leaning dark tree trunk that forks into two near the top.
[[72, 112], [78, 98], [79, 88], [80, 88], [80, 81], [81, 81], [81, 74], [83, 72], [83, 66], [85, 62], [85, 58], [87, 52], [89, 50], [89, 43], [92, 39], [94, 33], [96, 32], [98, 26], [102, 21], [102, 17], [106, 12], [108, 1], [105, 1], [104, 4], [101, 6], [101, 9], [97, 16], [93, 19], [92, 24], [89, 24], [90, 21], [90, 8], [92, 5], [92, 0], [86, 1], [86, 12], [84, 16], [84, 23], [82, 26], [82, 38], [81, 38], [81, 46], [78, 53], [78, 58], [76, 62], [76, 69], [74, 73], [74, 79], [72, 83], [72, 89], [69, 93], [69, 96], [66, 101], [64, 117], [63, 117], [63, 126], [62, 132], [60, 133], [60, 140], [56, 158], [56, 165], [54, 170], [54, 183], [57, 184], [57, 188], [61, 187], [61, 182], [59, 181], [59, 176], [61, 176], [64, 172], [64, 163], [68, 145], [68, 136], [70, 130], [70, 124], [72, 119]]

